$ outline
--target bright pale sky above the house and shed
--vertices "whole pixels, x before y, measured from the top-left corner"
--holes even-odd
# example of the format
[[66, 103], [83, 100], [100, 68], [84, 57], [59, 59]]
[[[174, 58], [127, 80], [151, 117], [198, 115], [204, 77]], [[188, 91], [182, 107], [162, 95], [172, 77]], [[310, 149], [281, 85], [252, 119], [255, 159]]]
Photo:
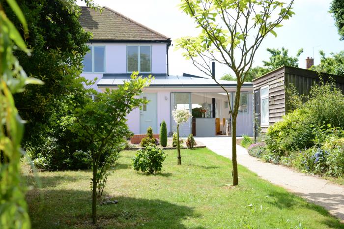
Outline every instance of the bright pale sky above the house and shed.
[[[338, 53], [344, 50], [344, 41], [335, 27], [335, 21], [328, 13], [332, 0], [295, 0], [293, 11], [295, 15], [284, 21], [283, 27], [275, 29], [277, 37], [270, 34], [259, 47], [253, 66], [262, 66], [262, 60], [267, 60], [267, 48], [285, 47], [289, 55], [295, 56], [300, 48], [304, 52], [299, 57], [299, 67], [305, 68], [305, 59], [314, 57], [315, 64], [320, 62], [319, 50], [328, 56], [331, 52]], [[101, 6], [108, 6], [125, 16], [154, 29], [174, 41], [184, 36], [196, 36], [199, 30], [195, 29], [193, 19], [182, 13], [178, 7], [180, 0], [94, 0]], [[78, 0], [79, 5], [85, 5]], [[169, 50], [170, 75], [189, 73], [204, 76], [193, 66], [190, 60], [182, 56], [181, 50], [172, 46]], [[229, 67], [216, 65], [216, 77], [231, 73]]]

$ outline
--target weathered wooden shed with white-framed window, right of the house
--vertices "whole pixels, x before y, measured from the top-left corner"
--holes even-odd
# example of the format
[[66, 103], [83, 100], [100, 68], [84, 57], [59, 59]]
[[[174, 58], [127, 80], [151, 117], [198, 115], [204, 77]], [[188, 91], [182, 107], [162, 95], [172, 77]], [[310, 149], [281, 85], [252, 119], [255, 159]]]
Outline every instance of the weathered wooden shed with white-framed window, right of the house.
[[344, 77], [315, 71], [283, 66], [253, 80], [256, 124], [261, 130], [282, 119], [288, 111], [286, 86], [294, 85], [301, 95], [309, 95], [314, 83], [332, 78], [336, 86], [344, 91]]

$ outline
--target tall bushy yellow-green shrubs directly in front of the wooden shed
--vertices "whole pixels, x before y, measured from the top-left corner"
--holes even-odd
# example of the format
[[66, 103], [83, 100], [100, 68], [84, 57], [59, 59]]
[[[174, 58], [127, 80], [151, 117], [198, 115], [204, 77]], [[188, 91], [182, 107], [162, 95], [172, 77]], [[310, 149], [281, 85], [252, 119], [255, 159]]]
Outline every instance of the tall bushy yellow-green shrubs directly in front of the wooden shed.
[[288, 156], [290, 152], [320, 145], [328, 136], [342, 135], [344, 95], [334, 83], [314, 85], [307, 102], [288, 113], [267, 131], [266, 144], [271, 153]]

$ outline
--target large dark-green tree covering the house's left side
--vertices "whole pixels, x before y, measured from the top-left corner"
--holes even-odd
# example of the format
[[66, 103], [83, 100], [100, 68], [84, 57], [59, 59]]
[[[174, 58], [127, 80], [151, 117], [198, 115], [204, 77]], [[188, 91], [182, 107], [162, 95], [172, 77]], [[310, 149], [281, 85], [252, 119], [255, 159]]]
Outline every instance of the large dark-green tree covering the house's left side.
[[[97, 7], [92, 0], [84, 1]], [[9, 4], [3, 8], [15, 27], [20, 28], [32, 54], [28, 56], [18, 50], [15, 56], [30, 77], [44, 82], [44, 86], [27, 85], [22, 93], [15, 95], [19, 114], [27, 121], [24, 135], [27, 143], [42, 135], [46, 126], [51, 127], [50, 118], [60, 109], [58, 101], [84, 89], [80, 74], [91, 34], [80, 25], [80, 7], [75, 0], [18, 0], [18, 4], [26, 15], [29, 35], [21, 29], [22, 23]]]

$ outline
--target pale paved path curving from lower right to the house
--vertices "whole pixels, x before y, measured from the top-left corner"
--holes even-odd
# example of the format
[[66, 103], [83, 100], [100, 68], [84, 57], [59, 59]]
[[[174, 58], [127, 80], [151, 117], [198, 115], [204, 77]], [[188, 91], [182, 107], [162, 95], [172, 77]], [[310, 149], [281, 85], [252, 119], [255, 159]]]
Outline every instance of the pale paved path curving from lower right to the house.
[[[230, 137], [195, 137], [215, 153], [231, 158]], [[287, 167], [264, 163], [251, 157], [247, 150], [237, 147], [237, 161], [240, 165], [256, 172], [261, 178], [282, 186], [288, 191], [325, 207], [332, 215], [344, 222], [344, 186], [325, 179], [295, 172]]]

